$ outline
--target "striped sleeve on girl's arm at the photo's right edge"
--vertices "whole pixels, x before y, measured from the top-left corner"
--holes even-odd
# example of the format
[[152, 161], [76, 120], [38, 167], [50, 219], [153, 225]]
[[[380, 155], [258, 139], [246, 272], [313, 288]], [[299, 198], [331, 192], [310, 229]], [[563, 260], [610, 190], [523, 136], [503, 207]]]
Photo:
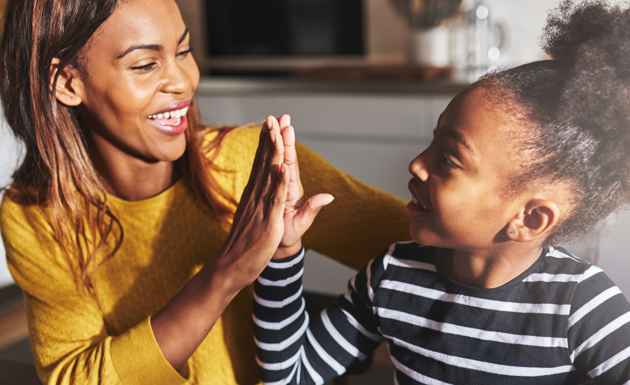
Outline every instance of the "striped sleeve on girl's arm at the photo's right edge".
[[567, 336], [573, 365], [595, 384], [630, 383], [630, 304], [599, 267], [576, 285]]

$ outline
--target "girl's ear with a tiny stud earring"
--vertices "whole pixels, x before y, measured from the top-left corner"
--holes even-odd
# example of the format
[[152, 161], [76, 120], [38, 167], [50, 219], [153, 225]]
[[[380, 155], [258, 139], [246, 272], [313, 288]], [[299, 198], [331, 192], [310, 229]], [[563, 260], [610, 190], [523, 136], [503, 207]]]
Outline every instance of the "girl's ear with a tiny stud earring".
[[556, 202], [535, 198], [527, 202], [506, 227], [506, 235], [517, 242], [529, 242], [544, 237], [558, 223], [560, 209]]

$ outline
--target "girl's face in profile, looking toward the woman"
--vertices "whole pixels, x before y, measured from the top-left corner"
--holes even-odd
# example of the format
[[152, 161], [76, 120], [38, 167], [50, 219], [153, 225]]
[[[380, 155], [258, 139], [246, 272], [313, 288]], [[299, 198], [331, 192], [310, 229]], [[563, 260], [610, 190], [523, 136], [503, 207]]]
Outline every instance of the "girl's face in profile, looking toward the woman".
[[506, 196], [507, 183], [523, 161], [510, 141], [527, 132], [527, 125], [488, 100], [489, 92], [473, 89], [455, 96], [432, 144], [411, 161], [413, 200], [407, 214], [411, 236], [420, 244], [474, 250], [507, 241], [508, 223], [531, 198]]

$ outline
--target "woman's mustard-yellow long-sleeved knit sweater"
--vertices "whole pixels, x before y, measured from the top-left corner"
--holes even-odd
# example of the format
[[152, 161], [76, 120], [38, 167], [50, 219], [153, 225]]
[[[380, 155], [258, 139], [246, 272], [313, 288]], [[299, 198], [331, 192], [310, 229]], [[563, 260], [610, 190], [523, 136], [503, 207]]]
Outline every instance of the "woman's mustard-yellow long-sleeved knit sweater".
[[[239, 129], [217, 163], [237, 200], [260, 127]], [[307, 247], [354, 268], [394, 241], [409, 239], [404, 202], [345, 175], [297, 145], [306, 197], [335, 195], [304, 236]], [[0, 229], [15, 282], [25, 292], [31, 347], [46, 384], [258, 384], [251, 287], [227, 307], [180, 372], [164, 359], [151, 330], [156, 313], [209, 260], [227, 236], [185, 181], [129, 202], [109, 197], [122, 222], [120, 251], [98, 270], [101, 307], [77, 288], [50, 221], [37, 206], [4, 198]]]

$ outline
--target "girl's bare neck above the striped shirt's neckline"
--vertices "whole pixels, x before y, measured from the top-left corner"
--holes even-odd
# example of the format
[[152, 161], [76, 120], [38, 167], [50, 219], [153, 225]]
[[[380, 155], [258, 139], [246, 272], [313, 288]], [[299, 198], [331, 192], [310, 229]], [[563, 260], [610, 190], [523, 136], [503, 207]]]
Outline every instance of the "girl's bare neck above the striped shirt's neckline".
[[459, 284], [490, 289], [507, 284], [536, 262], [542, 248], [526, 246], [529, 244], [514, 244], [501, 250], [443, 251], [436, 264]]

